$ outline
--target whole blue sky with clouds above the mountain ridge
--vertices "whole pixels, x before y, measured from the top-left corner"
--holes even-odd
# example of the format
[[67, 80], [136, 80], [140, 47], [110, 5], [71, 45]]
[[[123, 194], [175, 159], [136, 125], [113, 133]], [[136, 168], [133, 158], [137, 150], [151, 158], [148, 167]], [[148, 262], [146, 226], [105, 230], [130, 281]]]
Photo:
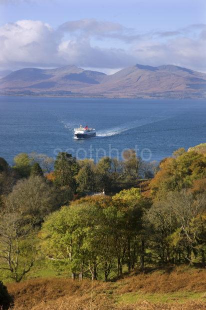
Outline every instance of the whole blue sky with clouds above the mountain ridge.
[[206, 72], [206, 0], [0, 0], [0, 69]]

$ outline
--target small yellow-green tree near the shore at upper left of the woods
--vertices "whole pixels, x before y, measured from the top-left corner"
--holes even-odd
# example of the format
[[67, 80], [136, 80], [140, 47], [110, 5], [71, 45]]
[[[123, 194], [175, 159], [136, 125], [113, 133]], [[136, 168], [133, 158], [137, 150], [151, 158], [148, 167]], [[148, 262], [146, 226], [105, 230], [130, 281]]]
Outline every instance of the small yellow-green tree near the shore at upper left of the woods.
[[18, 171], [21, 177], [28, 177], [30, 174], [31, 160], [26, 153], [19, 153], [13, 158], [15, 163], [14, 168]]

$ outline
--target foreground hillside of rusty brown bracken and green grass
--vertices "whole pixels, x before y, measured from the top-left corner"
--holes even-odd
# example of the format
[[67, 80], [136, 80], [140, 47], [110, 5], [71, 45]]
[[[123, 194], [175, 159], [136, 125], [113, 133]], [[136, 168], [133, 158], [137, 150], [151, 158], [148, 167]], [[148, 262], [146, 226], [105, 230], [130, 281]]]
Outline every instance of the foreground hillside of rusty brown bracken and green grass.
[[206, 270], [172, 266], [114, 282], [36, 278], [10, 283], [14, 310], [205, 309]]

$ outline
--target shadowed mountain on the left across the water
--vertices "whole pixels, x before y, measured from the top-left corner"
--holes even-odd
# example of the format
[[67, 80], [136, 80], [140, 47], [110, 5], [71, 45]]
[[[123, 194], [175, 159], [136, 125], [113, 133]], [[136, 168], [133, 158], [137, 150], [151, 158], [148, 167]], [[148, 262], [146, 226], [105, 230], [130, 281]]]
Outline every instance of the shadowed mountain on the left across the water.
[[76, 92], [92, 84], [98, 84], [106, 74], [84, 70], [75, 65], [55, 69], [24, 68], [13, 71], [0, 79], [0, 92], [58, 93]]

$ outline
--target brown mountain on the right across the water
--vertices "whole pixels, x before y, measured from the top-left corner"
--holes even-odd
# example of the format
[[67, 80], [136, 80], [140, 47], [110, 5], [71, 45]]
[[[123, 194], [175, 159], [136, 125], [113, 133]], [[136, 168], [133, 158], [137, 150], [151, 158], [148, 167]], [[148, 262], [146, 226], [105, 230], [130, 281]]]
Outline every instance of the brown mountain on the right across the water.
[[174, 65], [137, 64], [107, 76], [103, 83], [87, 91], [108, 96], [204, 96], [206, 74]]

